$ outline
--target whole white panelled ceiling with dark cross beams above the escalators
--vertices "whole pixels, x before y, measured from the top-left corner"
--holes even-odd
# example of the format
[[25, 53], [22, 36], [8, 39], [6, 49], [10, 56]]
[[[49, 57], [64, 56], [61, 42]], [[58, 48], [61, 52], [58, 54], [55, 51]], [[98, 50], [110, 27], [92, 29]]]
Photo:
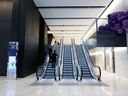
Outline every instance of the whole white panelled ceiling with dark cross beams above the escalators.
[[112, 0], [34, 0], [54, 36], [88, 32]]

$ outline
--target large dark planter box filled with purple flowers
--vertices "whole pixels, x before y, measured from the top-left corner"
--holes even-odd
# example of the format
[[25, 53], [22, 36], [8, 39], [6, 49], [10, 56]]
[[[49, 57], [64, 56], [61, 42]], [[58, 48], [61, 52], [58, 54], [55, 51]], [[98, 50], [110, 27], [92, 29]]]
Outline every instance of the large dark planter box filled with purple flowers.
[[97, 45], [100, 47], [125, 47], [128, 12], [114, 12], [108, 15], [108, 24], [99, 27]]

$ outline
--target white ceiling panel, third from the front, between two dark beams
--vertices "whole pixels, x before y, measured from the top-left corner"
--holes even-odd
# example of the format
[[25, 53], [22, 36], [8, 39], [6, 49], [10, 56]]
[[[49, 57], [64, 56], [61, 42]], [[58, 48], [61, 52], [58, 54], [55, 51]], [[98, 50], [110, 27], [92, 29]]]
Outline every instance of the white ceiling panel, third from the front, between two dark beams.
[[45, 22], [47, 25], [91, 25], [93, 23], [94, 19], [54, 19], [54, 20], [49, 20], [46, 19]]

